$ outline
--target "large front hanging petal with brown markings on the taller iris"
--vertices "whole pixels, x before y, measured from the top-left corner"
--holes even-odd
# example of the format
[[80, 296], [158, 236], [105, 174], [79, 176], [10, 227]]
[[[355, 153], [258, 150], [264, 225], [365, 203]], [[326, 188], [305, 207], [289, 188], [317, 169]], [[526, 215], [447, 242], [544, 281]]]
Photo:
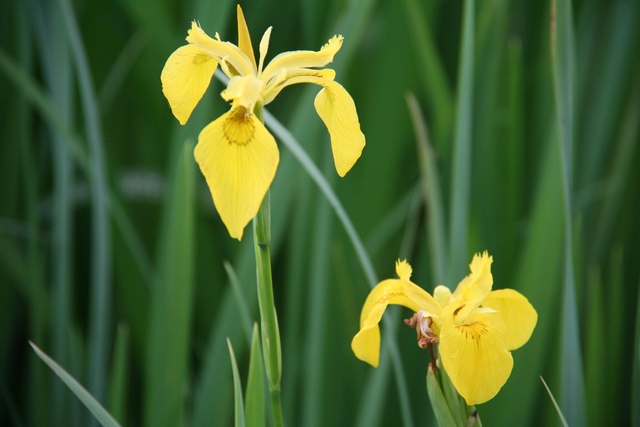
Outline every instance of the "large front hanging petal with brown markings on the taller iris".
[[275, 176], [275, 139], [255, 115], [238, 107], [200, 132], [194, 155], [222, 222], [240, 240]]

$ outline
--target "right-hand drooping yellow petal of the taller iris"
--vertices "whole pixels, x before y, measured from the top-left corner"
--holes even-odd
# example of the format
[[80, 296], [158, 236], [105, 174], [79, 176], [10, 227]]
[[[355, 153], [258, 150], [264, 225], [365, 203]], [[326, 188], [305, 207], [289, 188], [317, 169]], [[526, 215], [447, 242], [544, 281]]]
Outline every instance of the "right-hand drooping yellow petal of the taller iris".
[[351, 95], [331, 80], [324, 80], [323, 86], [313, 104], [329, 130], [336, 171], [345, 176], [360, 158], [365, 138]]

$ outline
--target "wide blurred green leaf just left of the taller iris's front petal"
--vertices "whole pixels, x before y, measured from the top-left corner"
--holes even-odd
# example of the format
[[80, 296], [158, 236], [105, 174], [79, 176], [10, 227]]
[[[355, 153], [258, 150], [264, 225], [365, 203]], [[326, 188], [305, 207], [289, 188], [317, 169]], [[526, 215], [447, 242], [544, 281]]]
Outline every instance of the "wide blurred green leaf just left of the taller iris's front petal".
[[163, 211], [146, 354], [145, 423], [153, 427], [180, 424], [189, 378], [195, 163], [192, 142], [177, 148]]

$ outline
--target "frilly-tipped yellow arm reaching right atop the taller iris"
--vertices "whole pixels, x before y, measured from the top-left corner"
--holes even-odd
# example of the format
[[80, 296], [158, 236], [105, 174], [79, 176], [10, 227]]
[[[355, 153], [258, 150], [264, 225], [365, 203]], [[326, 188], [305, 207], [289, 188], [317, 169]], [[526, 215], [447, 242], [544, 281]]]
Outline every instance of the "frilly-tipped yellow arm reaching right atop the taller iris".
[[282, 69], [324, 67], [333, 61], [340, 47], [342, 47], [342, 36], [333, 36], [318, 52], [311, 50], [283, 52], [267, 64], [262, 76], [265, 80], [269, 80]]

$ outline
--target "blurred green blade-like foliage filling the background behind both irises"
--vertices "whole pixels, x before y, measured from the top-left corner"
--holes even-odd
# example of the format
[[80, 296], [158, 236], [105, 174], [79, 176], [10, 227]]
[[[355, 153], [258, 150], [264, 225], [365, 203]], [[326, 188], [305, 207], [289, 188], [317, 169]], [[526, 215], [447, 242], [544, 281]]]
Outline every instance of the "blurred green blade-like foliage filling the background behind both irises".
[[[640, 425], [638, 2], [560, 1], [554, 14], [518, 0], [241, 4], [254, 47], [274, 27], [268, 59], [344, 35], [331, 67], [367, 137], [344, 179], [317, 87], [267, 109], [324, 171], [378, 278], [400, 257], [425, 289], [455, 287], [488, 250], [494, 289], [538, 310], [511, 378], [478, 407], [485, 425], [559, 424], [540, 376], [571, 425]], [[90, 422], [28, 340], [123, 425], [232, 424], [226, 338], [246, 375], [252, 237], [228, 236], [191, 154], [228, 107], [214, 79], [181, 127], [160, 72], [193, 19], [235, 42], [235, 5], [0, 3], [0, 425]], [[401, 371], [388, 349], [378, 369], [353, 356], [371, 284], [325, 197], [280, 151], [285, 422], [433, 425], [407, 310], [391, 310]]]

